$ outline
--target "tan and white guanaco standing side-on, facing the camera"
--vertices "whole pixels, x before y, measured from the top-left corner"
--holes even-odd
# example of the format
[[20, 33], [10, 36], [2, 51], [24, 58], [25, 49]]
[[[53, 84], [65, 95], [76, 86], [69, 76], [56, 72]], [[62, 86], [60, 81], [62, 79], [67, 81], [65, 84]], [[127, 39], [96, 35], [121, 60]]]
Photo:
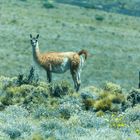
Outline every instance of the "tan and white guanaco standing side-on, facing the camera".
[[[47, 79], [50, 83], [52, 81], [52, 73], [64, 73], [70, 70], [74, 87], [76, 91], [79, 90], [81, 79], [80, 74], [83, 64], [87, 59], [87, 51], [81, 50], [77, 52], [46, 52], [41, 53], [38, 45], [39, 34], [33, 37], [30, 34], [31, 45], [33, 50], [33, 58], [35, 62], [45, 69]], [[84, 57], [82, 56], [84, 55]]]

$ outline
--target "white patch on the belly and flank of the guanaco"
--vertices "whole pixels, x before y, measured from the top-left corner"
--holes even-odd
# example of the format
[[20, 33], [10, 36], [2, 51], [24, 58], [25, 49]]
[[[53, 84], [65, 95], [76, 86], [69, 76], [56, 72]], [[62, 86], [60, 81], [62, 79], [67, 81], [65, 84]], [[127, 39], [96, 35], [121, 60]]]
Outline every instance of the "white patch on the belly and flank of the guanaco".
[[70, 69], [70, 62], [68, 58], [64, 58], [64, 61], [60, 65], [55, 65], [51, 67], [51, 72], [54, 73], [64, 73]]

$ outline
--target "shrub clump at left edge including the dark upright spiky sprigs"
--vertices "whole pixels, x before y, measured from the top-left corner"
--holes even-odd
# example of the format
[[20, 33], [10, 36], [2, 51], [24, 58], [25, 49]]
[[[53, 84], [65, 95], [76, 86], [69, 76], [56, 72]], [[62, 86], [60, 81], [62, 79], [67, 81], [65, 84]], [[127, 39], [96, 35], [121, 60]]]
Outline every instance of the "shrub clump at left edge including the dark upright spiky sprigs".
[[35, 69], [31, 67], [27, 76], [19, 75], [18, 78], [0, 77], [0, 102], [4, 105], [24, 104], [31, 102], [45, 103], [48, 98], [48, 85], [39, 82]]

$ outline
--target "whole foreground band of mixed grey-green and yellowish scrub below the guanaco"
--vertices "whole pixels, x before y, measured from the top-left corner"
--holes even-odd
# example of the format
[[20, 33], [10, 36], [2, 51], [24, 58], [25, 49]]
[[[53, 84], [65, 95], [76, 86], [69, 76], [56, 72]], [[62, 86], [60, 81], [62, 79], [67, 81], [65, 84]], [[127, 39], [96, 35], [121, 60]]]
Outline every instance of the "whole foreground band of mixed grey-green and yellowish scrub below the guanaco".
[[113, 83], [76, 93], [67, 81], [27, 80], [31, 73], [0, 77], [1, 139], [140, 138], [139, 89], [137, 98]]

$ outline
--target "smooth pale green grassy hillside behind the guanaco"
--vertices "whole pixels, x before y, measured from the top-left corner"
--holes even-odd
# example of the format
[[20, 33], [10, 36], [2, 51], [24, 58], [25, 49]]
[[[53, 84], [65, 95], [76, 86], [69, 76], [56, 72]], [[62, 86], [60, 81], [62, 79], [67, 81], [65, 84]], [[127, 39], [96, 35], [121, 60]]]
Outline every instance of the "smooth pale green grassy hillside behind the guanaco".
[[[83, 86], [106, 81], [137, 87], [139, 71], [139, 18], [95, 9], [42, 1], [0, 2], [0, 75], [15, 76], [33, 64], [29, 34], [40, 34], [41, 51], [79, 51], [89, 58], [82, 73]], [[46, 73], [39, 70], [41, 79]], [[53, 79], [62, 79], [55, 75]], [[71, 79], [69, 73], [66, 79]]]

